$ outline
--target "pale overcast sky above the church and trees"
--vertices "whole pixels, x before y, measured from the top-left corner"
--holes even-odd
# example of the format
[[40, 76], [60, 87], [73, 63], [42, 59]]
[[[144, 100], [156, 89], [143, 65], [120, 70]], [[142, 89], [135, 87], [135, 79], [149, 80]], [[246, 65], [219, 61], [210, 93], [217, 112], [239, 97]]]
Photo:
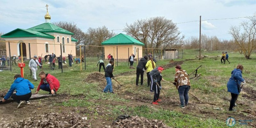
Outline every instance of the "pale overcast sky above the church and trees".
[[[51, 22], [74, 21], [84, 32], [89, 27], [106, 26], [109, 30], [123, 29], [137, 19], [164, 16], [177, 23], [185, 39], [199, 37], [199, 16], [202, 34], [231, 39], [231, 25], [239, 25], [256, 12], [256, 0], [1, 0], [0, 32], [16, 28], [28, 29], [44, 23], [45, 5]], [[116, 33], [124, 33], [115, 30]]]

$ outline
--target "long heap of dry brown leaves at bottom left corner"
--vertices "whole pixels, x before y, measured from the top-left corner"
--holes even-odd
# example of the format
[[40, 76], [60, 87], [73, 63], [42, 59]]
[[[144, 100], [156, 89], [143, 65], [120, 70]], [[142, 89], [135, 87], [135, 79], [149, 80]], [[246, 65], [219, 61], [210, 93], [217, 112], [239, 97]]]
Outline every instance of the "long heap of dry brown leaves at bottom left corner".
[[22, 119], [18, 122], [13, 123], [0, 123], [2, 127], [11, 127], [11, 128], [84, 128], [90, 127], [91, 125], [86, 122], [84, 117], [75, 115], [74, 113], [60, 114], [60, 113], [44, 113], [37, 115], [35, 117], [29, 117]]

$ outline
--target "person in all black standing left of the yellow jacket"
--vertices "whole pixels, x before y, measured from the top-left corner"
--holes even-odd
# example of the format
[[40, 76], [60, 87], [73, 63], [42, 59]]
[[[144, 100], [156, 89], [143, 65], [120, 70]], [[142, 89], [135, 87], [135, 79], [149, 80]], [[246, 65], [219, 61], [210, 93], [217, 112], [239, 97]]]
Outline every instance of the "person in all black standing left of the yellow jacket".
[[139, 86], [139, 77], [140, 77], [140, 85], [143, 85], [143, 75], [144, 71], [147, 69], [146, 64], [147, 64], [148, 56], [144, 56], [143, 58], [140, 59], [140, 62], [137, 65], [137, 70], [136, 70], [136, 86]]

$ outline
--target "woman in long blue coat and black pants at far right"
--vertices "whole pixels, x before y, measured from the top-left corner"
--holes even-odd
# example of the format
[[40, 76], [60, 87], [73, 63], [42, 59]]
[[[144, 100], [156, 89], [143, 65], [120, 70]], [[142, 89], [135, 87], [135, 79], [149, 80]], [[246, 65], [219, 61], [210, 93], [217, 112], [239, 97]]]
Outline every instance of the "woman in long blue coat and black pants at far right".
[[245, 84], [245, 81], [242, 77], [243, 68], [243, 65], [237, 65], [237, 67], [231, 72], [231, 77], [229, 78], [227, 83], [228, 92], [231, 93], [229, 111], [236, 111], [235, 109], [233, 109], [233, 107], [235, 106], [237, 96], [240, 93], [238, 92], [237, 84], [239, 84], [239, 86], [241, 82], [242, 84]]

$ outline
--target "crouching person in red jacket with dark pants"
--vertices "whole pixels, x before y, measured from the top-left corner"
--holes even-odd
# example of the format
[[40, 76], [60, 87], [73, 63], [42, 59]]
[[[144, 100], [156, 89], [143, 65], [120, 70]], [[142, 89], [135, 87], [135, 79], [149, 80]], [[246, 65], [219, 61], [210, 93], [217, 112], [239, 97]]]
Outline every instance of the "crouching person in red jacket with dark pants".
[[36, 94], [40, 89], [42, 89], [50, 92], [49, 94], [55, 95], [60, 87], [59, 80], [51, 74], [45, 74], [44, 72], [40, 72], [39, 76], [41, 78], [41, 82], [36, 89]]

